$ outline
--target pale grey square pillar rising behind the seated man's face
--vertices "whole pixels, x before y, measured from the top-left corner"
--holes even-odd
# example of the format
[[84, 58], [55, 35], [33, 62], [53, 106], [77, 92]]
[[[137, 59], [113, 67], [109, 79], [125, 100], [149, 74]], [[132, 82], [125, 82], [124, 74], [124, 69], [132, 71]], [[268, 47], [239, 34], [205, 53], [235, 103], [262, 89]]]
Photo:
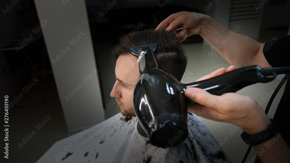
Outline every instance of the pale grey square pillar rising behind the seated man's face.
[[[85, 1], [69, 1], [63, 4], [63, 1], [35, 0], [35, 6], [40, 24], [43, 19], [49, 21], [42, 23], [45, 25], [42, 32], [68, 131], [102, 122], [103, 104], [98, 76], [95, 74], [91, 79], [85, 79], [91, 77], [92, 69], [96, 69]], [[82, 31], [84, 36], [79, 33]], [[70, 42], [78, 36], [82, 38], [76, 44]], [[69, 47], [68, 52], [57, 58], [56, 54], [60, 54], [66, 47]], [[52, 59], [60, 60], [53, 62]], [[79, 84], [82, 88], [66, 101], [65, 96]]]

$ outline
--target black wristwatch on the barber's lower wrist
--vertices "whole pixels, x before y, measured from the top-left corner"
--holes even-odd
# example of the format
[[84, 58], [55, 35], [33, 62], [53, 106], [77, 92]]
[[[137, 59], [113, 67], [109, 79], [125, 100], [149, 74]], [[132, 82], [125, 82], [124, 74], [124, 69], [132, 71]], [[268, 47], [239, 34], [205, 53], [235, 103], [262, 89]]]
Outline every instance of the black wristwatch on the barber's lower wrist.
[[268, 125], [268, 128], [264, 131], [261, 131], [259, 133], [249, 135], [246, 132], [243, 132], [241, 134], [242, 139], [246, 144], [249, 144], [250, 146], [261, 144], [262, 142], [266, 142], [267, 140], [273, 138], [278, 132], [279, 132], [279, 126], [276, 122], [271, 120], [271, 124]]

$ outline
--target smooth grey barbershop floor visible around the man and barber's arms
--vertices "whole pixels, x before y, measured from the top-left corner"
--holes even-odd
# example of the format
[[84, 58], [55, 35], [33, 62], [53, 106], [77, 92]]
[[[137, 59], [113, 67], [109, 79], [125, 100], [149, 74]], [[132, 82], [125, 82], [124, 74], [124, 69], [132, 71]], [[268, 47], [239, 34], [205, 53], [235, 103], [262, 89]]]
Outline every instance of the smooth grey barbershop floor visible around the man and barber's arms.
[[[267, 40], [271, 40], [272, 36], [277, 36], [277, 38], [280, 38], [281, 36], [286, 35], [286, 33], [287, 31], [280, 32], [274, 30], [263, 30], [259, 41], [265, 42]], [[102, 76], [101, 80], [103, 83], [105, 104], [108, 104], [110, 99], [112, 99], [109, 95], [113, 84], [115, 83], [115, 67], [111, 65], [109, 61], [109, 53], [114, 45], [116, 45], [116, 42], [99, 43], [97, 48], [98, 64]], [[212, 49], [209, 46], [205, 46], [203, 44], [186, 45], [186, 53], [189, 57], [189, 63], [182, 79], [183, 82], [193, 82], [220, 67], [226, 68], [229, 66], [229, 63], [227, 63], [218, 53], [209, 58], [207, 53], [211, 51]], [[191, 71], [194, 75], [187, 81], [185, 77]], [[274, 85], [281, 79], [282, 78], [280, 76], [270, 83], [251, 85], [238, 91], [238, 93], [249, 95], [258, 102], [262, 102], [262, 98], [267, 96], [266, 93], [274, 89]], [[11, 124], [14, 127], [11, 131], [11, 141], [14, 143], [10, 146], [10, 162], [36, 162], [50, 148], [50, 146], [52, 146], [52, 144], [73, 134], [66, 132], [67, 129], [64, 115], [61, 110], [54, 80], [52, 77], [48, 77], [48, 81], [50, 81], [52, 89], [47, 91], [46, 103], [44, 105], [22, 109], [10, 109], [11, 114], [9, 113], [9, 115], [17, 120], [17, 122], [15, 121], [14, 124]], [[39, 83], [39, 87], [41, 86], [42, 84]], [[275, 107], [278, 105], [281, 94], [282, 91], [278, 93], [272, 104], [269, 111], [270, 118], [273, 117]], [[41, 100], [41, 97], [41, 92], [32, 92], [27, 94], [25, 99], [21, 99], [18, 104], [21, 105], [25, 102], [29, 103], [29, 101], [31, 101], [30, 99], [35, 102], [37, 100]], [[267, 103], [262, 105], [262, 108], [265, 109], [266, 105]], [[109, 118], [118, 112], [119, 109], [116, 105], [110, 108], [106, 116]], [[32, 130], [35, 130], [35, 125], [43, 121], [44, 116], [48, 114], [52, 117], [52, 119], [47, 122], [41, 130], [37, 131], [36, 135], [34, 135], [26, 145], [19, 149], [17, 143], [21, 142], [22, 138], [26, 137], [26, 134], [31, 133]], [[204, 118], [202, 118], [202, 120], [211, 131], [217, 142], [224, 142], [221, 147], [230, 160], [232, 162], [241, 162], [248, 148], [248, 146], [240, 138], [242, 129], [235, 128], [234, 125], [223, 122], [215, 122]], [[228, 136], [229, 140], [223, 141], [225, 136]], [[253, 149], [248, 157], [248, 160], [251, 156], [255, 156], [255, 151]], [[5, 160], [3, 161], [5, 162]]]

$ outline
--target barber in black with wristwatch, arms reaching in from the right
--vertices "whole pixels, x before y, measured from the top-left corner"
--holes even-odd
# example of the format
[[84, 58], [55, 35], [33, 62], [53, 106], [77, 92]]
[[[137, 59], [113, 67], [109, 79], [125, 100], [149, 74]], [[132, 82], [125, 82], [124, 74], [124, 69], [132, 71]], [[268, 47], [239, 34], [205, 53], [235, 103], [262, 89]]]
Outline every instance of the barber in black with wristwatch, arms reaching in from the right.
[[[229, 32], [233, 32], [225, 28], [223, 25], [215, 21], [213, 18], [194, 12], [178, 12], [172, 14], [164, 21], [162, 21], [156, 28], [160, 30], [166, 28], [167, 31], [172, 31], [181, 27], [189, 27], [176, 36], [179, 41], [183, 41], [186, 37], [193, 34], [200, 34], [213, 47], [221, 43]], [[249, 61], [254, 61], [255, 65], [260, 67], [281, 67], [290, 66], [290, 56], [288, 47], [290, 44], [290, 36], [282, 39], [272, 40], [266, 44], [258, 43], [254, 39], [236, 33], [231, 40], [224, 44], [221, 48], [216, 50], [232, 65], [235, 67], [247, 66]], [[282, 96], [282, 99], [277, 108], [274, 120], [276, 120], [281, 127], [281, 138], [276, 136], [272, 139], [277, 139], [271, 146], [266, 146], [267, 141], [255, 144], [254, 148], [257, 152], [262, 151], [260, 159], [262, 162], [290, 162], [290, 150], [283, 139], [286, 139], [288, 145], [289, 141], [289, 76], [288, 82]], [[228, 122], [235, 124], [237, 120], [246, 122], [243, 129], [248, 135], [256, 135], [268, 129], [268, 125], [272, 124], [269, 118], [261, 109], [258, 102], [252, 98], [235, 93], [227, 93], [222, 96], [214, 96], [202, 89], [188, 88], [185, 95], [201, 105], [191, 105], [189, 111], [198, 113], [201, 111], [202, 105], [210, 107], [208, 111], [202, 116], [207, 119]], [[215, 100], [212, 105], [207, 102]], [[284, 135], [284, 136], [283, 136]], [[266, 150], [265, 150], [266, 149]]]

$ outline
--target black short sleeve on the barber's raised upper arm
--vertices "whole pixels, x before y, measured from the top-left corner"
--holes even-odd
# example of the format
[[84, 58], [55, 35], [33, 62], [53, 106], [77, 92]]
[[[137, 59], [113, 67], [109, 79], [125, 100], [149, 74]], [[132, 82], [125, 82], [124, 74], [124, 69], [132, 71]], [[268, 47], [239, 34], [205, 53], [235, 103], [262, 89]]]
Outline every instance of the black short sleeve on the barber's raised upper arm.
[[263, 53], [272, 67], [290, 66], [290, 35], [281, 39], [272, 37], [263, 47]]

